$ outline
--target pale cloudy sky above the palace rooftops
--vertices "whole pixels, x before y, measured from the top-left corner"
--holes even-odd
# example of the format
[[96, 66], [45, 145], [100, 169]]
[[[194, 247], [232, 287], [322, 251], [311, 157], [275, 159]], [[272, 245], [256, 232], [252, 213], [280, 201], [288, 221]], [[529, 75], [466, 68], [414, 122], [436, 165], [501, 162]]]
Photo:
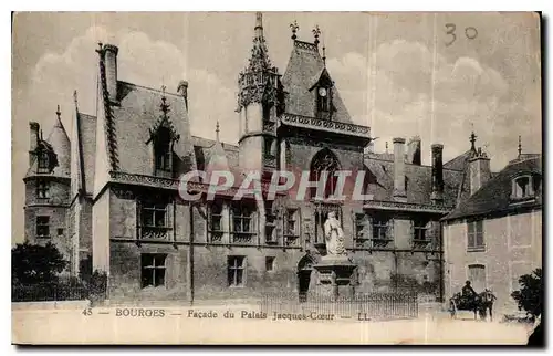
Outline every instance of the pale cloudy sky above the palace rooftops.
[[[23, 240], [29, 122], [46, 137], [56, 105], [71, 133], [73, 91], [95, 115], [97, 42], [119, 48], [118, 78], [176, 92], [189, 82], [192, 135], [236, 144], [238, 73], [250, 54], [252, 12], [33, 12], [12, 27], [12, 242]], [[422, 163], [444, 144], [447, 161], [477, 144], [500, 170], [517, 156], [541, 153], [541, 52], [531, 13], [264, 12], [269, 54], [284, 73], [299, 40], [319, 25], [326, 64], [354, 123], [371, 126], [375, 150], [393, 137], [418, 135]]]

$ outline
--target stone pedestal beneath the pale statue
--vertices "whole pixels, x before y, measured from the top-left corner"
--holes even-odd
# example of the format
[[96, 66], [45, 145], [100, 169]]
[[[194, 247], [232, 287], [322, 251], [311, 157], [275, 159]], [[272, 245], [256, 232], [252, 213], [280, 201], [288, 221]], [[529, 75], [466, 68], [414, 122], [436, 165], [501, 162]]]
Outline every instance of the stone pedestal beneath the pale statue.
[[353, 296], [355, 294], [353, 272], [356, 266], [356, 264], [349, 261], [347, 255], [323, 256], [320, 263], [313, 265], [319, 272], [319, 283], [315, 293], [323, 296], [328, 295], [334, 301], [338, 296]]

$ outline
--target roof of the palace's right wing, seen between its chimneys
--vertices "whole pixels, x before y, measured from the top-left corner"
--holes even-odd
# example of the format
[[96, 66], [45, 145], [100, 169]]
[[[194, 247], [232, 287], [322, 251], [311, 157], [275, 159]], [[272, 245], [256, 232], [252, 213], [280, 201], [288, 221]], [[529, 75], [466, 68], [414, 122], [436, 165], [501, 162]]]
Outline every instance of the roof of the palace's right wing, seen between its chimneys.
[[[394, 192], [394, 161], [377, 158], [365, 159], [365, 167], [369, 171], [369, 191], [374, 200], [393, 201]], [[407, 202], [432, 205], [430, 195], [432, 167], [405, 164], [407, 180]], [[444, 169], [444, 205], [455, 207], [462, 172]]]

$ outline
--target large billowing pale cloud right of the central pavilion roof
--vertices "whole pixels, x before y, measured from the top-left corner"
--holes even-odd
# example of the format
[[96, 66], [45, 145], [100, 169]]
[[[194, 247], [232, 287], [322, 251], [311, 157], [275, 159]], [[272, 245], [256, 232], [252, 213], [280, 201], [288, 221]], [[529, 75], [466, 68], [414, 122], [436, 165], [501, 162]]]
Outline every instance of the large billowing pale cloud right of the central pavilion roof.
[[369, 59], [359, 53], [331, 59], [328, 70], [354, 121], [380, 137], [377, 150], [393, 137], [419, 135], [425, 163], [438, 142], [450, 159], [469, 148], [474, 129], [493, 169], [515, 156], [518, 135], [528, 151], [540, 151], [535, 93], [513, 96], [508, 81], [474, 57], [447, 60], [420, 42], [395, 40], [379, 44]]

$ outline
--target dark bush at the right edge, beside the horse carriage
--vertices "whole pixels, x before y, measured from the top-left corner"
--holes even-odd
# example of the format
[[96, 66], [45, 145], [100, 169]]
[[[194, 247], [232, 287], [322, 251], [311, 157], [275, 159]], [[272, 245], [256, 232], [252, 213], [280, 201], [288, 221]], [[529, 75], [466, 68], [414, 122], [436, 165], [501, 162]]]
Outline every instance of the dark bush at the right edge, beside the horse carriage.
[[540, 315], [543, 299], [542, 269], [521, 275], [519, 283], [522, 287], [511, 293], [511, 296], [519, 304], [519, 310], [524, 310], [534, 317]]

